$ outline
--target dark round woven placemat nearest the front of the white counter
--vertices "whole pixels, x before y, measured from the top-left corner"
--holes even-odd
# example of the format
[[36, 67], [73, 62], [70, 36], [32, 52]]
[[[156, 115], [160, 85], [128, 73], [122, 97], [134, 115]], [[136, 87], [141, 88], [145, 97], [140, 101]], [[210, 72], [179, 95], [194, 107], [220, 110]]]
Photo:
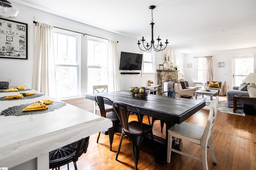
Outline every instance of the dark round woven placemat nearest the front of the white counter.
[[9, 107], [8, 109], [3, 110], [0, 115], [4, 116], [20, 116], [20, 115], [34, 115], [34, 114], [42, 114], [42, 113], [47, 113], [50, 111], [54, 111], [56, 109], [60, 109], [64, 106], [66, 106], [66, 103], [64, 102], [53, 102], [52, 104], [48, 104], [48, 109], [44, 110], [37, 110], [37, 111], [22, 111], [22, 109], [26, 108], [27, 106], [31, 105], [30, 104], [22, 104], [20, 106], [13, 106]]

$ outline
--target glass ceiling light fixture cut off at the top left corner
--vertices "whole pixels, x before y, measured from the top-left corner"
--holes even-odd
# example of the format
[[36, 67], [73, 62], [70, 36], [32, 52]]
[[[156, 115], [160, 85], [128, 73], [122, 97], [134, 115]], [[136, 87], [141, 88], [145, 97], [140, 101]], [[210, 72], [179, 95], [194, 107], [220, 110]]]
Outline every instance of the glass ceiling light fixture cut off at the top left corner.
[[0, 17], [2, 18], [16, 18], [19, 10], [12, 6], [12, 3], [7, 0], [0, 0]]

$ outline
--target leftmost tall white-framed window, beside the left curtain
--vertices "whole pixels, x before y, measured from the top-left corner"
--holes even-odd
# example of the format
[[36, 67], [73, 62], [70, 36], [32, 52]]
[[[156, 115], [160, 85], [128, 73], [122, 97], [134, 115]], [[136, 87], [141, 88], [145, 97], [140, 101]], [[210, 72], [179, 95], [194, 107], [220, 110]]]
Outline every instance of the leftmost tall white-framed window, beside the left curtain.
[[56, 98], [79, 96], [80, 35], [54, 29]]

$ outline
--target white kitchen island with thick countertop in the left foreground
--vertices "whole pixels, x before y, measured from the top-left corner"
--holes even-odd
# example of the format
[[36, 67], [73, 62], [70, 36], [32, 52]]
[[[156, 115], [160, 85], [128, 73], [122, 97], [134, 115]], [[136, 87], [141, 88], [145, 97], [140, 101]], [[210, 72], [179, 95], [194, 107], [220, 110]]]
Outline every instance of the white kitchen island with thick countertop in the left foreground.
[[[28, 92], [40, 94], [35, 90], [22, 91]], [[18, 93], [1, 92], [0, 98]], [[46, 95], [23, 100], [1, 100], [0, 112], [42, 99], [60, 102]], [[112, 121], [70, 104], [41, 114], [1, 115], [0, 167], [9, 170], [48, 170], [48, 152], [110, 127]]]

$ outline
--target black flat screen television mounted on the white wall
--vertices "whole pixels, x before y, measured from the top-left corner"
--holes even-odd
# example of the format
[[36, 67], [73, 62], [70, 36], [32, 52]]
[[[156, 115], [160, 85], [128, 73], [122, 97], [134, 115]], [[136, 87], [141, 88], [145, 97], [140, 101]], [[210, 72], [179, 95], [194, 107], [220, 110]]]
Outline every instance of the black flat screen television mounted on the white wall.
[[121, 52], [119, 70], [141, 70], [142, 54]]

